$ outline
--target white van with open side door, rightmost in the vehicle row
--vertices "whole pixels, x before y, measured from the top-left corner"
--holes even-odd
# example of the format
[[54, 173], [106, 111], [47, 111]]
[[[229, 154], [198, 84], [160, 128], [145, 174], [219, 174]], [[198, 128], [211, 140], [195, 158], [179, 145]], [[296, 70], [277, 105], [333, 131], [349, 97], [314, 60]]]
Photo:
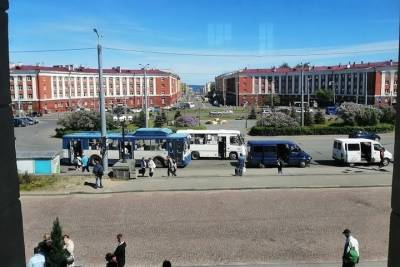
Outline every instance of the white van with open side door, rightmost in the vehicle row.
[[[333, 142], [332, 158], [347, 164], [370, 163], [381, 161], [380, 150], [383, 146], [374, 140], [363, 138], [335, 139]], [[385, 149], [383, 165], [389, 165], [393, 155]]]

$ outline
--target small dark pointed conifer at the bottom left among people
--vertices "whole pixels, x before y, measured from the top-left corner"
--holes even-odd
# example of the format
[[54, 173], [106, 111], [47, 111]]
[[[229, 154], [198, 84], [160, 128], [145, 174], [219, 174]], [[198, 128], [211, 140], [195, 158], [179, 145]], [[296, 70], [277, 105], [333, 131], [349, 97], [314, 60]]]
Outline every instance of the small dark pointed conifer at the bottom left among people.
[[62, 228], [58, 217], [53, 222], [53, 230], [51, 231], [51, 242], [52, 245], [49, 252], [49, 266], [67, 266], [65, 250], [63, 248]]

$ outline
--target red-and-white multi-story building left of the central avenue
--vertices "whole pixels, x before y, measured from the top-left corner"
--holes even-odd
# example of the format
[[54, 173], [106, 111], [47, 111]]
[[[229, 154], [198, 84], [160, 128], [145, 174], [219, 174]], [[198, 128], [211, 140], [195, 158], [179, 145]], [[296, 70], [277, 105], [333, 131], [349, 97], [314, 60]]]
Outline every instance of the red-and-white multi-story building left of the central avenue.
[[[171, 106], [181, 94], [180, 78], [174, 73], [148, 69], [144, 81], [144, 70], [103, 69], [106, 107], [141, 108], [145, 82], [149, 107]], [[10, 90], [14, 110], [47, 113], [99, 108], [97, 69], [14, 65]]]

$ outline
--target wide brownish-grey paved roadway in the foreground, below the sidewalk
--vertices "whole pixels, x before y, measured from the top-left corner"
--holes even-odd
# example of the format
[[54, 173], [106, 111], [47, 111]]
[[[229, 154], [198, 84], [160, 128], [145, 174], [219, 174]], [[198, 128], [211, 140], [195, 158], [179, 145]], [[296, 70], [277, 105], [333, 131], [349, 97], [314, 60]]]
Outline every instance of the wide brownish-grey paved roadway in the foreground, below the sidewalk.
[[337, 262], [344, 228], [358, 238], [362, 261], [384, 261], [387, 255], [390, 188], [22, 196], [21, 200], [27, 257], [59, 217], [75, 242], [77, 263], [83, 266], [104, 265], [104, 255], [114, 250], [119, 232], [128, 244], [127, 266], [160, 266], [164, 259], [174, 266]]

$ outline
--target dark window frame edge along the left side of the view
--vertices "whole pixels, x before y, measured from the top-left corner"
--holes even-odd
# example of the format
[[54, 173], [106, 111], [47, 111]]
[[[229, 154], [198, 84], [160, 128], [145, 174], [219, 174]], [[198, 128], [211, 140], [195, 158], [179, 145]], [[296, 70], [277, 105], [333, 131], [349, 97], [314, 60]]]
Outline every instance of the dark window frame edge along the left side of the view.
[[15, 157], [8, 58], [8, 0], [0, 0], [0, 250], [2, 266], [25, 266], [24, 231]]

